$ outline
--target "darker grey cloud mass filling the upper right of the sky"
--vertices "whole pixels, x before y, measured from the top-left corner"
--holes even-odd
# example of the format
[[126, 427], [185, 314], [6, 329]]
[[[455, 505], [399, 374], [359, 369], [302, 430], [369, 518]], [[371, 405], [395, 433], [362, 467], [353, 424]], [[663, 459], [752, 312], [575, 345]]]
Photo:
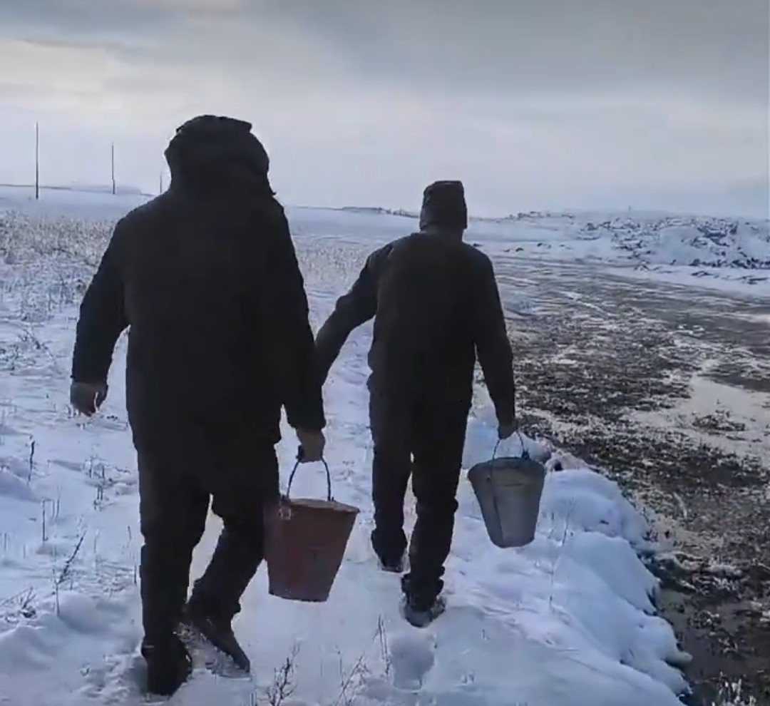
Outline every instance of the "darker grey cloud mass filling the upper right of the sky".
[[271, 12], [323, 35], [363, 80], [768, 100], [767, 0], [299, 0]]

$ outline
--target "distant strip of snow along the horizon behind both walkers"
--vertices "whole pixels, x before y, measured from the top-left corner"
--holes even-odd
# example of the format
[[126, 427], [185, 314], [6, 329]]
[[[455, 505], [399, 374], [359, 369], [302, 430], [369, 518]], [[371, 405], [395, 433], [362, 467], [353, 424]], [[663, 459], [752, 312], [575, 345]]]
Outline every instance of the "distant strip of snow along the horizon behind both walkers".
[[[111, 218], [146, 196], [0, 187], [0, 209]], [[296, 235], [384, 243], [417, 229], [417, 214], [385, 209], [287, 209]], [[608, 274], [770, 296], [770, 220], [659, 212], [531, 212], [470, 220], [470, 242], [495, 259], [547, 259]]]

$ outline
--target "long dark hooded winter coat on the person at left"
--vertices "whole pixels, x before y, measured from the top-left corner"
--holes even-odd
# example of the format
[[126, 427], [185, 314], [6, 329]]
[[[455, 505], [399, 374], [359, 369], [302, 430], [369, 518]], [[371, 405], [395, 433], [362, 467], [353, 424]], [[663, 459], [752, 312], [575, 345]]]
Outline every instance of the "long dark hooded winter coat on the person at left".
[[105, 380], [130, 327], [138, 448], [275, 443], [282, 404], [293, 427], [324, 427], [303, 278], [250, 127], [207, 116], [179, 129], [169, 190], [115, 226], [82, 301], [72, 377]]

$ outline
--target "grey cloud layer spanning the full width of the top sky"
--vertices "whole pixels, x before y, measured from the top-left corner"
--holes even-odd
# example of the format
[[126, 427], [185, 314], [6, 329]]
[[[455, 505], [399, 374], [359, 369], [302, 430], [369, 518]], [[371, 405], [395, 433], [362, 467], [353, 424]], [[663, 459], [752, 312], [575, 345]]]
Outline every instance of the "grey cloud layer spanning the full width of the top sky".
[[[767, 0], [23, 0], [0, 27], [458, 97], [638, 91], [766, 109], [770, 84]], [[201, 51], [209, 27], [219, 46]]]

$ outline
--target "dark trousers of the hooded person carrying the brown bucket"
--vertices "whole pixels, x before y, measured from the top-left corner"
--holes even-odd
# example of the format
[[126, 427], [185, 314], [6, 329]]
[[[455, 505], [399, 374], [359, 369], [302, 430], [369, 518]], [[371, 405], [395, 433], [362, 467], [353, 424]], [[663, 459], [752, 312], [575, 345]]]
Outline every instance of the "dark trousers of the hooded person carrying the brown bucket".
[[190, 607], [209, 617], [232, 619], [263, 560], [264, 509], [278, 494], [276, 453], [264, 446], [249, 458], [232, 455], [222, 454], [217, 461], [213, 453], [188, 450], [172, 457], [166, 451], [139, 450], [144, 538], [139, 574], [146, 642], [168, 639], [179, 624], [192, 550], [203, 536], [209, 504], [224, 527], [209, 567], [193, 588]]

